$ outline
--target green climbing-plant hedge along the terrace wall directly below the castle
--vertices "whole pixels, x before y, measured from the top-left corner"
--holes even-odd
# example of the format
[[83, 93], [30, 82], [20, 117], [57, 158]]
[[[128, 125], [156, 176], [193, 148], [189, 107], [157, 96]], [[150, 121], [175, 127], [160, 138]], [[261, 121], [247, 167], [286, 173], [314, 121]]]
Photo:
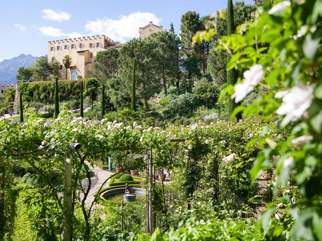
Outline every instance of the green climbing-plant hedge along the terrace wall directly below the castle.
[[[86, 82], [91, 79], [83, 80], [59, 80], [58, 93], [59, 101], [79, 100], [81, 98], [81, 82]], [[22, 94], [23, 101], [41, 102], [44, 104], [54, 102], [55, 81], [39, 81], [19, 84], [19, 91]]]

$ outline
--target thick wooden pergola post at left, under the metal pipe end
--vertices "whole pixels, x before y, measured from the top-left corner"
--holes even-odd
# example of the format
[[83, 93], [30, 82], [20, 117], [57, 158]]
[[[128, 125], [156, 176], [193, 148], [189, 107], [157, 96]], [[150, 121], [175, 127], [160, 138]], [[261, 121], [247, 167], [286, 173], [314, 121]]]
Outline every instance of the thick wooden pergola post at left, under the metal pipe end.
[[63, 241], [72, 241], [71, 159], [64, 161]]

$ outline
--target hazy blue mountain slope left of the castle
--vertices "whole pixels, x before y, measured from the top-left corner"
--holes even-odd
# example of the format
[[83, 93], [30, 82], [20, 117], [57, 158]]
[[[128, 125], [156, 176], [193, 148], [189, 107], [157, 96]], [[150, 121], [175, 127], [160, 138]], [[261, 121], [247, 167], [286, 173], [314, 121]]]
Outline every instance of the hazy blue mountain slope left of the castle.
[[17, 70], [20, 66], [27, 68], [33, 65], [36, 59], [38, 57], [34, 57], [31, 54], [21, 54], [12, 59], [4, 59], [4, 61], [0, 62], [0, 84], [16, 83]]

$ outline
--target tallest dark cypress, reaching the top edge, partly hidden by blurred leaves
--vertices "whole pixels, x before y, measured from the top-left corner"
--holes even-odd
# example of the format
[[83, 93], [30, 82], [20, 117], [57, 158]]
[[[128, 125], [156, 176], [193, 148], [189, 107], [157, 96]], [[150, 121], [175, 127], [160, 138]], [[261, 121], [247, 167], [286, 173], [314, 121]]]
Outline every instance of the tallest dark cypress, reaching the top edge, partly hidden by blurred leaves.
[[[227, 6], [227, 36], [235, 33], [235, 23], [233, 19], [233, 5], [232, 0], [228, 0]], [[231, 56], [227, 54], [227, 64], [229, 63]], [[235, 69], [229, 69], [227, 71], [227, 85], [235, 84], [237, 81], [238, 75]], [[233, 99], [228, 100], [228, 111], [229, 116], [231, 115], [233, 109], [235, 107]], [[241, 119], [241, 112], [236, 115], [237, 119]]]

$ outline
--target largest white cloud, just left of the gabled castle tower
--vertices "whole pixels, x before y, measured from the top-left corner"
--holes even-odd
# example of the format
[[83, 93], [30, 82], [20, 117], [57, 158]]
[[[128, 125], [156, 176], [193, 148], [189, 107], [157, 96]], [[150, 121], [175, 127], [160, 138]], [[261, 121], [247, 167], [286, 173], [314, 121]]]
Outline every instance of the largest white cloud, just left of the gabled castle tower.
[[125, 42], [139, 36], [139, 27], [144, 27], [149, 22], [159, 25], [161, 19], [152, 13], [136, 12], [119, 19], [102, 18], [96, 21], [87, 21], [85, 30], [89, 35], [105, 34], [114, 41]]

